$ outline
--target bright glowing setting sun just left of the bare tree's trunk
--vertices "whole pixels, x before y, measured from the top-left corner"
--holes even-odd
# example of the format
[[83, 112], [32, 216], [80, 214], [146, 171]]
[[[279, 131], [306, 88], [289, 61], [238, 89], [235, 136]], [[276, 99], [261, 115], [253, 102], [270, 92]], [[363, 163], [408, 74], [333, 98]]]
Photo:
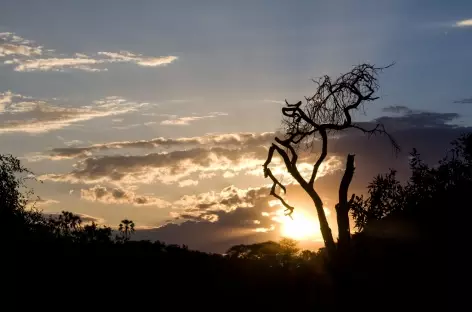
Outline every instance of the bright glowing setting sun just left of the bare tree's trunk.
[[292, 218], [284, 217], [282, 220], [282, 236], [295, 240], [316, 239], [320, 236], [317, 220], [306, 214], [294, 211]]

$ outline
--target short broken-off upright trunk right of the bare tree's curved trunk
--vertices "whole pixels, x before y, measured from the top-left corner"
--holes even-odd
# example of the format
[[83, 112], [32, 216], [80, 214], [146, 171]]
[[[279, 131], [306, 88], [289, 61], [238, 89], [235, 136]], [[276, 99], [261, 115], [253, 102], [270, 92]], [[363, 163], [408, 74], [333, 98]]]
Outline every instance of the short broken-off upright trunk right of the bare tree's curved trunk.
[[349, 226], [349, 202], [347, 193], [354, 175], [354, 155], [347, 156], [346, 170], [344, 171], [339, 186], [339, 203], [336, 205], [336, 218], [338, 222], [338, 249], [345, 251], [349, 248], [351, 231]]

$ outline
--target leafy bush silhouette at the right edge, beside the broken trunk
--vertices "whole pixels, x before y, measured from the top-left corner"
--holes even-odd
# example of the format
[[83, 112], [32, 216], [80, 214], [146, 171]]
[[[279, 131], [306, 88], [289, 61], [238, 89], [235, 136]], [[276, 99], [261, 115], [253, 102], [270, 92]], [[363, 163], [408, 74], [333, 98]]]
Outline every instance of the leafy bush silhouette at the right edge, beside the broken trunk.
[[396, 237], [408, 237], [411, 227], [415, 236], [434, 235], [438, 224], [454, 227], [448, 208], [467, 203], [472, 189], [472, 134], [462, 135], [452, 146], [436, 166], [424, 163], [413, 149], [406, 183], [397, 180], [394, 170], [376, 176], [368, 186], [368, 196], [356, 196], [351, 205], [357, 230], [379, 235], [390, 228]]

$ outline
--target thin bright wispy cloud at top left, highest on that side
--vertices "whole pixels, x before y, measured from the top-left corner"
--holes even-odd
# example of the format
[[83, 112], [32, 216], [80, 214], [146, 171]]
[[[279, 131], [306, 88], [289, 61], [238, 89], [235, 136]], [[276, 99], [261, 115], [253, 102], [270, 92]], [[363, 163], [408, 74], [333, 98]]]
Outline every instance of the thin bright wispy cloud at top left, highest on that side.
[[143, 67], [168, 65], [177, 56], [143, 56], [129, 51], [60, 54], [55, 50], [44, 50], [14, 33], [0, 33], [0, 59], [4, 64], [14, 65], [18, 72], [81, 70], [87, 72], [107, 71], [103, 64], [133, 63]]

